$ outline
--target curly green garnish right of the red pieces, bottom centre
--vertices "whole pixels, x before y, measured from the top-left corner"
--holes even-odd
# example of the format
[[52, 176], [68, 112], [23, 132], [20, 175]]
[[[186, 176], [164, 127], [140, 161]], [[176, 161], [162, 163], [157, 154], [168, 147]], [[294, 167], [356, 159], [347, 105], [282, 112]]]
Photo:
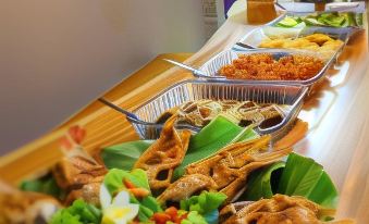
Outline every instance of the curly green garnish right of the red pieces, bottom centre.
[[218, 208], [224, 202], [226, 196], [222, 192], [202, 191], [199, 196], [193, 196], [181, 200], [181, 209], [196, 211], [205, 217], [207, 223], [218, 223]]

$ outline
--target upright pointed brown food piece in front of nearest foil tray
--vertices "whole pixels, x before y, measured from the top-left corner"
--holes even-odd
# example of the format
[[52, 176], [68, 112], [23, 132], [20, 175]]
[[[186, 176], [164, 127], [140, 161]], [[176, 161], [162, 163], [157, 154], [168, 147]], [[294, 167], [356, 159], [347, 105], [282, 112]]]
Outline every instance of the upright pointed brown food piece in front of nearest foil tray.
[[134, 167], [147, 173], [150, 188], [165, 188], [171, 184], [173, 171], [186, 154], [190, 132], [179, 132], [174, 128], [176, 116], [170, 117], [155, 141], [137, 160]]

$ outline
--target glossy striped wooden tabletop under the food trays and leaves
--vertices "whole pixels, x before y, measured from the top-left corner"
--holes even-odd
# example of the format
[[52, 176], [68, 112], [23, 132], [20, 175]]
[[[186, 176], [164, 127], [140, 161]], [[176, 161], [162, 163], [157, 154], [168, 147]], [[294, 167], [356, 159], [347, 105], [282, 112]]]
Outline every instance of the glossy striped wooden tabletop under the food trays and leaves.
[[[133, 110], [168, 86], [193, 78], [186, 71], [169, 69], [162, 58], [200, 65], [255, 28], [245, 23], [243, 13], [230, 17], [197, 53], [160, 55], [104, 97]], [[368, 36], [362, 32], [348, 42], [339, 63], [306, 99], [299, 117], [309, 123], [309, 132], [295, 146], [297, 152], [321, 163], [333, 178], [341, 194], [337, 215], [357, 223], [369, 223], [368, 63]], [[123, 115], [95, 101], [45, 137], [0, 158], [1, 179], [16, 184], [53, 165], [62, 157], [59, 138], [76, 124], [87, 130], [83, 146], [91, 153], [137, 139]]]

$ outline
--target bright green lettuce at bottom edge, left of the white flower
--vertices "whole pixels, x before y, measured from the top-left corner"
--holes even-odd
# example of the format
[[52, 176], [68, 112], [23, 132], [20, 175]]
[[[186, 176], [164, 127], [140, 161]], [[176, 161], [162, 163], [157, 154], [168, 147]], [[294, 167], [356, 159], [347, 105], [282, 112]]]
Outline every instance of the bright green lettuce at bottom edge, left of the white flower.
[[51, 217], [51, 224], [98, 224], [101, 221], [101, 211], [96, 207], [77, 199], [69, 208], [61, 209]]

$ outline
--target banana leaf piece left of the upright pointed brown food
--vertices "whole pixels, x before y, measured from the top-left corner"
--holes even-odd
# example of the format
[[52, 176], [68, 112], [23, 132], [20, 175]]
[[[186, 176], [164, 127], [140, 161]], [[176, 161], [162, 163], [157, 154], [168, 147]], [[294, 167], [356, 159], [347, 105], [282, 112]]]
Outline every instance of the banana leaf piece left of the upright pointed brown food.
[[101, 158], [108, 169], [131, 171], [137, 159], [153, 140], [128, 141], [102, 149]]

